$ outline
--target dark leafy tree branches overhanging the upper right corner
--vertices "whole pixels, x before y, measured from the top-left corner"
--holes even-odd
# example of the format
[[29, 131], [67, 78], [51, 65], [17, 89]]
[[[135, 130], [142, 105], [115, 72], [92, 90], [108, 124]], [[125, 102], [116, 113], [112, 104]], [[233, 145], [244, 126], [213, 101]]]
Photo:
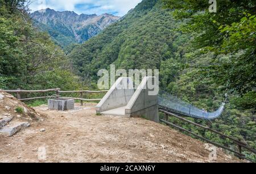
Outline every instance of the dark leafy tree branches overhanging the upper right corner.
[[[180, 29], [196, 33], [192, 49], [200, 48], [199, 54], [214, 53], [209, 65], [201, 67], [198, 75], [204, 75], [212, 83], [221, 86], [222, 90], [240, 97], [254, 91], [255, 1], [218, 1], [217, 13], [208, 11], [208, 1], [164, 2], [166, 7], [175, 9], [173, 14], [177, 19], [189, 19]], [[255, 109], [255, 106], [250, 106]]]

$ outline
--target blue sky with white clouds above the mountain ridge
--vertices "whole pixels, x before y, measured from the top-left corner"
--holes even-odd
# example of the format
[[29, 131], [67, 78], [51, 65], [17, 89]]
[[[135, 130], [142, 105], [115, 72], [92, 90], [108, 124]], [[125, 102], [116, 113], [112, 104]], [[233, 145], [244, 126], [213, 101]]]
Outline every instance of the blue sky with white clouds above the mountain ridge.
[[30, 10], [53, 9], [55, 11], [75, 11], [77, 14], [125, 15], [142, 0], [30, 0]]

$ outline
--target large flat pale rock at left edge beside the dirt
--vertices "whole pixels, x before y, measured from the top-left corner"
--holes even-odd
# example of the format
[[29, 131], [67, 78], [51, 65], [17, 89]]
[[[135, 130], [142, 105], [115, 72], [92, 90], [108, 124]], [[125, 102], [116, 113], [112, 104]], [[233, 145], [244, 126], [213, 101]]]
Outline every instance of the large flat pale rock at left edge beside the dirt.
[[30, 123], [28, 122], [17, 122], [13, 126], [4, 127], [0, 130], [0, 133], [5, 134], [9, 137], [13, 136], [15, 133], [17, 133], [19, 130], [23, 128], [28, 128], [30, 126]]

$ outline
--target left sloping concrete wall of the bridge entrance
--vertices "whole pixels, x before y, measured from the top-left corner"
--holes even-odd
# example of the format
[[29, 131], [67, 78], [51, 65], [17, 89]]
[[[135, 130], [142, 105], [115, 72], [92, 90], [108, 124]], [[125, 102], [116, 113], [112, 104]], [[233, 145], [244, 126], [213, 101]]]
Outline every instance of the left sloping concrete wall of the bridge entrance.
[[97, 114], [110, 109], [125, 107], [133, 94], [133, 80], [131, 78], [118, 78], [96, 106]]

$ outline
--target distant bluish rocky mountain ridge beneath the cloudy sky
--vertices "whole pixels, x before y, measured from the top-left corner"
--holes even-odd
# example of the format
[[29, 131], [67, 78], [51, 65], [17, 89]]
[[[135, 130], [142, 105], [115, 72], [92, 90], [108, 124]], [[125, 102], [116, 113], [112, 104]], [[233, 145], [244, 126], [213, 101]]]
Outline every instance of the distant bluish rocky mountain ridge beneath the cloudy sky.
[[61, 46], [83, 43], [119, 19], [110, 14], [78, 15], [73, 11], [51, 9], [35, 11], [30, 16], [34, 19], [34, 26], [47, 31]]

